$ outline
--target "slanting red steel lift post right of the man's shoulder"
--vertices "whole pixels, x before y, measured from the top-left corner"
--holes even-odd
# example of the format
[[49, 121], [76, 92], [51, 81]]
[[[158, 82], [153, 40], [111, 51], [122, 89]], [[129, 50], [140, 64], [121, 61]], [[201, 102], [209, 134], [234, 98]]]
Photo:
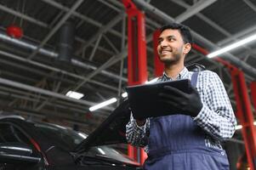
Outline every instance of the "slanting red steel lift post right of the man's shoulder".
[[[209, 54], [206, 49], [196, 44], [193, 44], [192, 47], [204, 55]], [[214, 59], [227, 66], [230, 70], [236, 98], [236, 117], [242, 124], [242, 137], [245, 141], [247, 160], [251, 170], [256, 170], [256, 129], [253, 125], [253, 111], [251, 109], [251, 103], [247, 94], [247, 84], [245, 82], [245, 77], [241, 70], [239, 70], [236, 66], [231, 65], [225, 59], [221, 59], [219, 57]], [[253, 84], [252, 87], [256, 89], [256, 85]], [[256, 94], [253, 96], [254, 100], [256, 100]]]

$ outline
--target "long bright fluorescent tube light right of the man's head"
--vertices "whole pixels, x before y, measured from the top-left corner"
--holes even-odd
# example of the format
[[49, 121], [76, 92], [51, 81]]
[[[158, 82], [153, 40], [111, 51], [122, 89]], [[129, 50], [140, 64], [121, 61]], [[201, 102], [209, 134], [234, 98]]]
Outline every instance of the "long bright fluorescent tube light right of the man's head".
[[237, 48], [237, 47], [242, 46], [248, 42], [252, 42], [253, 40], [256, 40], [256, 34], [254, 34], [253, 36], [247, 37], [245, 39], [242, 39], [239, 42], [232, 43], [232, 44], [226, 46], [225, 48], [221, 48], [211, 54], [208, 54], [207, 56], [208, 56], [208, 58], [213, 58], [219, 54], [224, 54], [225, 52], [230, 51], [233, 48]]

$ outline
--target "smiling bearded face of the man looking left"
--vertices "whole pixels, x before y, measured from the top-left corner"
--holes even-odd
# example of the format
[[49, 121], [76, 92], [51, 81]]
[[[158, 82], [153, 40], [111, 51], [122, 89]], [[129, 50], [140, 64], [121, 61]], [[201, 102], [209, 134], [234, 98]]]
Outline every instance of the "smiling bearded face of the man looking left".
[[190, 49], [191, 44], [185, 44], [183, 42], [178, 30], [164, 30], [158, 38], [157, 52], [159, 59], [164, 64], [176, 64], [181, 62], [181, 59], [184, 59], [185, 54], [187, 54]]

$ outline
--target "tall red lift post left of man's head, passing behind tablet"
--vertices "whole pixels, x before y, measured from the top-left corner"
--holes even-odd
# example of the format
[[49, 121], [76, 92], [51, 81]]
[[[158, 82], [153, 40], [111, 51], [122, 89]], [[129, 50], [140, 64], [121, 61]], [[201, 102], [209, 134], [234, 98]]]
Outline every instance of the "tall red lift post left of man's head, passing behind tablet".
[[[147, 81], [147, 58], [145, 42], [145, 15], [131, 0], [122, 0], [128, 14], [128, 85], [143, 84]], [[142, 165], [146, 154], [144, 150], [128, 145], [128, 156]]]

